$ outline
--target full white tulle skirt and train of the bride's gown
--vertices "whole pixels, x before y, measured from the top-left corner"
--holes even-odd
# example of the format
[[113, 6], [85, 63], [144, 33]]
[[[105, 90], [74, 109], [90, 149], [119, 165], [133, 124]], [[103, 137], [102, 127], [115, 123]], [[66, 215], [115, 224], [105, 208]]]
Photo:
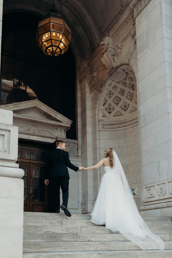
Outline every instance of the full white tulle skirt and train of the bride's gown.
[[164, 249], [164, 242], [149, 230], [138, 210], [130, 207], [122, 181], [116, 173], [106, 172], [102, 176], [91, 216], [93, 223], [119, 231], [144, 250]]

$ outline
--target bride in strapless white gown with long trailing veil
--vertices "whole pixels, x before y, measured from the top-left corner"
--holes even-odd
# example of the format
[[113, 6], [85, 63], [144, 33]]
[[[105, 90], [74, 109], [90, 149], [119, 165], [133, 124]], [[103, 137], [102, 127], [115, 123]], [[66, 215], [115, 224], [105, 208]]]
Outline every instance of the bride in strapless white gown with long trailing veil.
[[106, 225], [112, 231], [119, 231], [124, 237], [143, 250], [165, 248], [162, 239], [153, 234], [139, 214], [133, 195], [119, 158], [111, 148], [106, 148], [105, 158], [92, 167], [104, 166], [99, 193], [91, 213], [91, 221]]

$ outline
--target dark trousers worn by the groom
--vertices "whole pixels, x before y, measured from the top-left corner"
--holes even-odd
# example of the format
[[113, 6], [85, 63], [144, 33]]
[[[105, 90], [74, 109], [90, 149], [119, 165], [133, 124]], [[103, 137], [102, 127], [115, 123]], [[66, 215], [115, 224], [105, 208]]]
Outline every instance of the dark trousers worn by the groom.
[[62, 189], [62, 205], [68, 206], [69, 197], [69, 178], [67, 176], [52, 176], [50, 184], [53, 192], [55, 211], [60, 209], [60, 187]]

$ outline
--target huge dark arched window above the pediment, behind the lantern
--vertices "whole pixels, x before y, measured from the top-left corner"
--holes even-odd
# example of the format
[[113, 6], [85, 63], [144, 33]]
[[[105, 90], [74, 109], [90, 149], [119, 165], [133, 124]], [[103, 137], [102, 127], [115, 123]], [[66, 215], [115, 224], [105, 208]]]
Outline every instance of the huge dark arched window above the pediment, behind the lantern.
[[38, 20], [27, 13], [3, 15], [1, 105], [38, 99], [73, 121], [66, 137], [76, 140], [75, 59], [70, 46], [59, 57], [39, 49]]

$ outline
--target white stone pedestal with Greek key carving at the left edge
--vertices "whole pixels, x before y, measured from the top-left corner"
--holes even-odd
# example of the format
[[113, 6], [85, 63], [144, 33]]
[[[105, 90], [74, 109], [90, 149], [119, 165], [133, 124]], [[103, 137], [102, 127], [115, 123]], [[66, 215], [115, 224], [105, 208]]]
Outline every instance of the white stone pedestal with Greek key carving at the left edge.
[[22, 258], [24, 171], [15, 163], [18, 127], [12, 123], [13, 112], [0, 109], [0, 249], [3, 258]]

